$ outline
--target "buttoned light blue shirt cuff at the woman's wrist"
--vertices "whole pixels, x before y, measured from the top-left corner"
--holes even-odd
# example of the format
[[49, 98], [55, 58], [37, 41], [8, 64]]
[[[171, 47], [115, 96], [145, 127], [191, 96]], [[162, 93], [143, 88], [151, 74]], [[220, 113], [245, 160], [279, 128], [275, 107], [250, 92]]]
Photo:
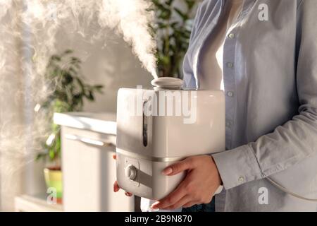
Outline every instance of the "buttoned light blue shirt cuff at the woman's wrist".
[[256, 156], [248, 145], [212, 156], [226, 190], [263, 178]]

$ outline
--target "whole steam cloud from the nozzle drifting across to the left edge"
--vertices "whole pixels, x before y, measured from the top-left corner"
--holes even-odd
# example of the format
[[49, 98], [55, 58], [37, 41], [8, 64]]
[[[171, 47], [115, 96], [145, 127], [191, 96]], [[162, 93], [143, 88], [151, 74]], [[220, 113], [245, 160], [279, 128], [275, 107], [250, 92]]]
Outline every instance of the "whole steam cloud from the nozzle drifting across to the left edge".
[[[56, 52], [58, 31], [82, 35], [89, 42], [106, 42], [106, 30], [111, 28], [123, 35], [156, 78], [156, 42], [148, 30], [154, 15], [147, 11], [149, 6], [146, 0], [0, 0], [2, 195], [18, 191], [18, 187], [6, 187], [4, 178], [13, 179], [21, 162], [34, 160], [49, 133], [49, 116], [35, 113], [34, 107], [53, 91], [43, 75]], [[94, 34], [88, 34], [87, 28], [93, 28]]]

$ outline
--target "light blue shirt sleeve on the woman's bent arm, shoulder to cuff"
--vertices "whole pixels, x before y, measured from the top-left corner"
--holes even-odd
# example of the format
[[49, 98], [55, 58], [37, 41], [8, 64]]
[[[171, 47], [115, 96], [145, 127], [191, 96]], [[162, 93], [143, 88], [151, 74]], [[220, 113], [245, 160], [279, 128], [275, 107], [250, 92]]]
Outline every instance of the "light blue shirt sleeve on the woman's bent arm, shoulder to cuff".
[[256, 142], [213, 155], [225, 189], [263, 179], [317, 155], [317, 1], [297, 9], [299, 114]]

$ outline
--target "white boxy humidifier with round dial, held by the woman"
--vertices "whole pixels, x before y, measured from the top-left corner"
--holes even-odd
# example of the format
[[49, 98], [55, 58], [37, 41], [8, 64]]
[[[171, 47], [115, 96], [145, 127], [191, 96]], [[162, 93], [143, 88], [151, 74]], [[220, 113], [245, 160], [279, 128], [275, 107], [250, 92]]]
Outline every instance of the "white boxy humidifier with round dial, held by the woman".
[[176, 78], [152, 84], [118, 91], [117, 180], [125, 191], [159, 200], [185, 177], [163, 169], [225, 150], [225, 97], [221, 90], [182, 89]]

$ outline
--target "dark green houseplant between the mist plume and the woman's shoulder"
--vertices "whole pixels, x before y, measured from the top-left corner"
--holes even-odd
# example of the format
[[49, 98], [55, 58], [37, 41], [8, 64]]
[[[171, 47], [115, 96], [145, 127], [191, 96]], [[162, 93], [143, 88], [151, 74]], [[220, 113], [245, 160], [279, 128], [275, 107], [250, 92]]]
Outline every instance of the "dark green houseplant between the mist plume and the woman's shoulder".
[[189, 45], [192, 14], [199, 1], [152, 0], [152, 2], [151, 10], [156, 14], [156, 23], [150, 27], [158, 42], [156, 57], [159, 76], [182, 78], [180, 64]]

